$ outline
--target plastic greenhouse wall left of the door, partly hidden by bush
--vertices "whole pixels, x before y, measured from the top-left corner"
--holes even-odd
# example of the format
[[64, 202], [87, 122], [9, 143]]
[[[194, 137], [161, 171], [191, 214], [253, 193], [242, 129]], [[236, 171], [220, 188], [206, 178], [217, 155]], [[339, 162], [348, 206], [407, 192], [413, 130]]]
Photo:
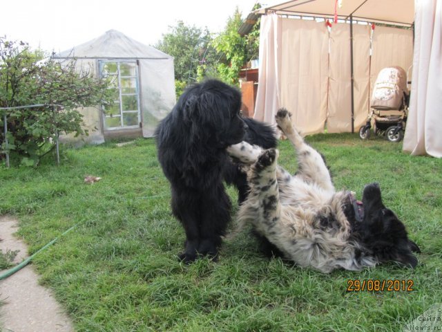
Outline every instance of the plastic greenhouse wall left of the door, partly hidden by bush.
[[[61, 62], [73, 61], [70, 59], [60, 59]], [[97, 60], [96, 59], [77, 59], [75, 62], [75, 69], [80, 71], [89, 71], [93, 76], [98, 76]], [[83, 115], [83, 129], [87, 129], [88, 136], [75, 137], [73, 133], [68, 135], [61, 135], [60, 141], [72, 145], [101, 144], [104, 142], [102, 131], [101, 111], [98, 107], [80, 107], [77, 109]]]

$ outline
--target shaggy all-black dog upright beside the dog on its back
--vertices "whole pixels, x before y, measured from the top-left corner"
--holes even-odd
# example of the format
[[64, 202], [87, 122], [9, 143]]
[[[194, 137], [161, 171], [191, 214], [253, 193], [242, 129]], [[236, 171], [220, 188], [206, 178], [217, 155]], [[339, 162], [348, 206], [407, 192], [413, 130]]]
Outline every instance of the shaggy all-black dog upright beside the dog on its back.
[[156, 130], [158, 159], [171, 183], [171, 207], [186, 232], [180, 259], [216, 258], [231, 219], [224, 180], [247, 197], [247, 176], [226, 148], [245, 140], [265, 149], [276, 146], [274, 131], [240, 115], [241, 93], [218, 80], [189, 86]]

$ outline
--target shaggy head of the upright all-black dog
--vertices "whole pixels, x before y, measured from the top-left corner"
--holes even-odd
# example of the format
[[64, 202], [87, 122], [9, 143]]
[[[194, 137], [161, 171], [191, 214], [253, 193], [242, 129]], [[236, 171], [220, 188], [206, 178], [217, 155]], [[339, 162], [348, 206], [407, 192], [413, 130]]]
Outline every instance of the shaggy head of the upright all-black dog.
[[241, 93], [218, 80], [189, 86], [180, 96], [174, 111], [195, 143], [224, 148], [241, 142], [247, 124], [240, 116]]

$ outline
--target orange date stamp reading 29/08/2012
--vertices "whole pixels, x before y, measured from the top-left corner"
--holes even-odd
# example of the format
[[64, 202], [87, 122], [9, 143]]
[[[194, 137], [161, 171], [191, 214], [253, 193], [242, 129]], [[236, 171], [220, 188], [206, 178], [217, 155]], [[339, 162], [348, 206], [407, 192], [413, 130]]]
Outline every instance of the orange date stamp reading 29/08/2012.
[[412, 292], [414, 280], [412, 279], [349, 279], [347, 292]]

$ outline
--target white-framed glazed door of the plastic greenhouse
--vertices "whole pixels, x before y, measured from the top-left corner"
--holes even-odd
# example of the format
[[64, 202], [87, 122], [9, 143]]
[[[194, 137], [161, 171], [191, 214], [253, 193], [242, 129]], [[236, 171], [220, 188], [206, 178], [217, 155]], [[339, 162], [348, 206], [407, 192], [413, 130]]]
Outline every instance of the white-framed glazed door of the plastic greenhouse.
[[99, 62], [101, 77], [109, 77], [114, 103], [102, 107], [105, 130], [140, 128], [140, 93], [138, 66], [133, 61], [103, 60]]

